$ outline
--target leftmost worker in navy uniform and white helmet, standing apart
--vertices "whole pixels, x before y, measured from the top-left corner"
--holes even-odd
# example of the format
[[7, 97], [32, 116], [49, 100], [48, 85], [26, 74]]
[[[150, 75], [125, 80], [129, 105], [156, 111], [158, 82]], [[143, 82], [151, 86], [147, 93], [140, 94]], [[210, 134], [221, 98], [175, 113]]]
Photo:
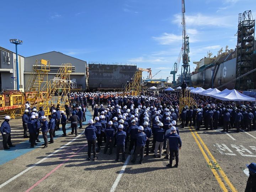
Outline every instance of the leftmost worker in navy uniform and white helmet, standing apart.
[[[10, 121], [10, 116], [5, 116], [4, 117], [4, 122], [2, 122], [1, 127], [0, 127], [0, 132], [2, 134], [2, 138], [3, 138], [3, 147], [4, 149], [10, 149], [9, 147], [14, 147], [15, 145], [13, 145], [11, 143], [11, 127], [9, 124]], [[7, 146], [7, 144], [9, 145], [9, 147]]]

